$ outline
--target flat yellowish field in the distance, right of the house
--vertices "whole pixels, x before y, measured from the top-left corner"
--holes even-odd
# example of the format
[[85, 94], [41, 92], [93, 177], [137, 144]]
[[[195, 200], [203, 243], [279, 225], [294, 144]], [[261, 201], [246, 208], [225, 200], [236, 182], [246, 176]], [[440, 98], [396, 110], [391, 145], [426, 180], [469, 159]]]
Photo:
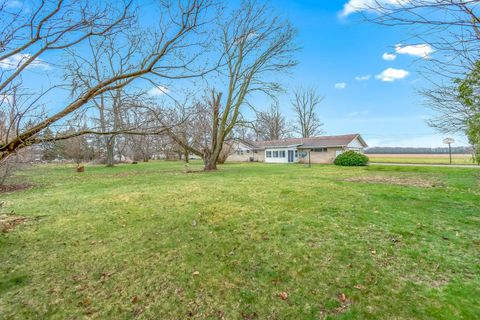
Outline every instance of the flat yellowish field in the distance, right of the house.
[[[367, 154], [370, 162], [449, 164], [448, 154]], [[452, 154], [453, 164], [473, 164], [470, 154]]]

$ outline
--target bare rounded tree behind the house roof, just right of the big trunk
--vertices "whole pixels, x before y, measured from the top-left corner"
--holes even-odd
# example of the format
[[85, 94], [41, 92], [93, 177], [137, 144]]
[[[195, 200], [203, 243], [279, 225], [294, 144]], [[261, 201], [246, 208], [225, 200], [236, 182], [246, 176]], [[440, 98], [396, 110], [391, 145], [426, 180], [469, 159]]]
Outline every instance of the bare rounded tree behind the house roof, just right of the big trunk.
[[283, 139], [290, 133], [277, 101], [267, 111], [257, 113], [253, 127], [257, 137], [261, 140]]

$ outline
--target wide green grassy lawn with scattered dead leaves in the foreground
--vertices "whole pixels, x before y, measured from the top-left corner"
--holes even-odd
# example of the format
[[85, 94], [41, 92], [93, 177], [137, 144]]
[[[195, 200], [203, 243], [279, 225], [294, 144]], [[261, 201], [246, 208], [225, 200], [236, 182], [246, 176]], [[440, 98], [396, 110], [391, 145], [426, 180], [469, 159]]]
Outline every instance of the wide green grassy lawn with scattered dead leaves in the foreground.
[[30, 218], [0, 234], [0, 319], [480, 317], [477, 169], [152, 162], [18, 178], [36, 187], [0, 194]]

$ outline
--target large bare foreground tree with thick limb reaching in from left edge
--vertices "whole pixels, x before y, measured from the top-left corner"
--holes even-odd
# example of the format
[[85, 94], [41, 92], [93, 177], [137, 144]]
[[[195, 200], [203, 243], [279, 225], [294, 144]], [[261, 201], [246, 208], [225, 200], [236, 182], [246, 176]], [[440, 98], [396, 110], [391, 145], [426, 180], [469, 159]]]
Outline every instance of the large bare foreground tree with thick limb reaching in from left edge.
[[[160, 2], [160, 26], [148, 33], [148, 41], [142, 43], [138, 58], [125, 72], [115, 72], [100, 81], [92, 81], [72, 95], [71, 100], [58, 112], [49, 114], [35, 125], [19, 130], [0, 146], [0, 161], [28, 145], [42, 142], [42, 130], [64, 120], [92, 99], [130, 85], [135, 79], [183, 79], [201, 76], [208, 72], [204, 66], [197, 68], [202, 37], [199, 32], [208, 19], [209, 0], [185, 0]], [[0, 63], [11, 65], [0, 77], [0, 95], [5, 95], [12, 86], [20, 85], [22, 73], [33, 64], [38, 64], [43, 54], [51, 52], [50, 58], [58, 58], [57, 52], [74, 50], [86, 39], [103, 38], [121, 32], [123, 23], [130, 16], [130, 3], [117, 1], [34, 1], [32, 10], [17, 10], [0, 6], [2, 29], [2, 53]], [[118, 45], [121, 45], [118, 44]], [[47, 56], [45, 56], [45, 59]], [[60, 59], [55, 60], [59, 63]], [[115, 66], [118, 68], [119, 66]], [[118, 69], [117, 69], [118, 70]], [[124, 130], [108, 132], [121, 133]], [[132, 133], [132, 132], [129, 132]], [[135, 132], [140, 134], [140, 132]], [[107, 134], [91, 128], [54, 139], [66, 139], [82, 134]]]

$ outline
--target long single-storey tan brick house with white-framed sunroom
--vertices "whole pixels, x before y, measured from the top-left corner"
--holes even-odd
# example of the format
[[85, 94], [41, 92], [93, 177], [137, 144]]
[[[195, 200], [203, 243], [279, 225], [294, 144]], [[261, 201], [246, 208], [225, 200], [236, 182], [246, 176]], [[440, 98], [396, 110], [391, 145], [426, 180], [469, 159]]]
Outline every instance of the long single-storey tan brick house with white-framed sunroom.
[[227, 161], [333, 163], [342, 152], [354, 150], [363, 153], [367, 146], [359, 134], [255, 142], [238, 140]]

